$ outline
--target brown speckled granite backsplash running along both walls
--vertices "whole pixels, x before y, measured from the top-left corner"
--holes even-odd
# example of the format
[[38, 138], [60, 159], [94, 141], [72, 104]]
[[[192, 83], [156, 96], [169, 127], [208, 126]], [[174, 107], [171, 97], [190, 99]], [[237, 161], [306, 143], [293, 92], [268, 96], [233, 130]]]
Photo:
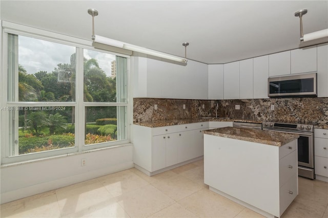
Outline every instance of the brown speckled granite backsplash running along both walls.
[[[134, 98], [133, 122], [215, 117], [275, 121], [286, 123], [328, 124], [328, 98], [270, 98], [238, 100], [191, 100]], [[157, 110], [154, 105], [157, 104]], [[183, 105], [186, 109], [183, 109]], [[235, 105], [240, 110], [235, 110]], [[271, 110], [274, 105], [274, 110]]]

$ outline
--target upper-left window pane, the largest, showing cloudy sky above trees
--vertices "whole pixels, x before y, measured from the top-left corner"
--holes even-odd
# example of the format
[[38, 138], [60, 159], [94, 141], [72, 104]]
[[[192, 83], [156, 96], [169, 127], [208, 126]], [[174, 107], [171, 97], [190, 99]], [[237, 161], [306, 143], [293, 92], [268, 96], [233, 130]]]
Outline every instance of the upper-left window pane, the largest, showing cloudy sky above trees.
[[75, 47], [18, 36], [15, 101], [75, 101], [75, 59]]

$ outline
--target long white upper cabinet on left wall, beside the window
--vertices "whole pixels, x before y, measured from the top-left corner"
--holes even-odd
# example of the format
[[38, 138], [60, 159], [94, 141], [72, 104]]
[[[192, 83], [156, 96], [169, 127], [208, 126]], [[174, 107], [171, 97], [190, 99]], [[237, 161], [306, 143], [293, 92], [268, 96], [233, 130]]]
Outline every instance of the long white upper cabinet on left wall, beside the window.
[[135, 98], [208, 99], [208, 65], [133, 57]]

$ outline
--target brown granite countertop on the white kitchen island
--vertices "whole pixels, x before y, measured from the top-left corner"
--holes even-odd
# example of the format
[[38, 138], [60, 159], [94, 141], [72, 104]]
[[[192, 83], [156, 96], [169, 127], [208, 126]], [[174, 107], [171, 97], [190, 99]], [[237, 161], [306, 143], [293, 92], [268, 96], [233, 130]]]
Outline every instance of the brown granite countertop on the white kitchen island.
[[237, 127], [223, 127], [205, 130], [204, 134], [275, 146], [282, 146], [299, 138], [299, 135], [292, 133], [280, 133], [267, 130], [263, 131], [259, 129]]

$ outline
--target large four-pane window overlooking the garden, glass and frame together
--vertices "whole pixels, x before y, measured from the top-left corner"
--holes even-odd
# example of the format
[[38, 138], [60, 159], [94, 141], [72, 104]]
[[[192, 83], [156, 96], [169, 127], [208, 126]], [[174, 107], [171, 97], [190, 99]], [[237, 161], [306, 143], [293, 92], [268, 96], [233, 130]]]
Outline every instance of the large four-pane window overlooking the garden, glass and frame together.
[[6, 36], [3, 163], [128, 142], [127, 57]]

